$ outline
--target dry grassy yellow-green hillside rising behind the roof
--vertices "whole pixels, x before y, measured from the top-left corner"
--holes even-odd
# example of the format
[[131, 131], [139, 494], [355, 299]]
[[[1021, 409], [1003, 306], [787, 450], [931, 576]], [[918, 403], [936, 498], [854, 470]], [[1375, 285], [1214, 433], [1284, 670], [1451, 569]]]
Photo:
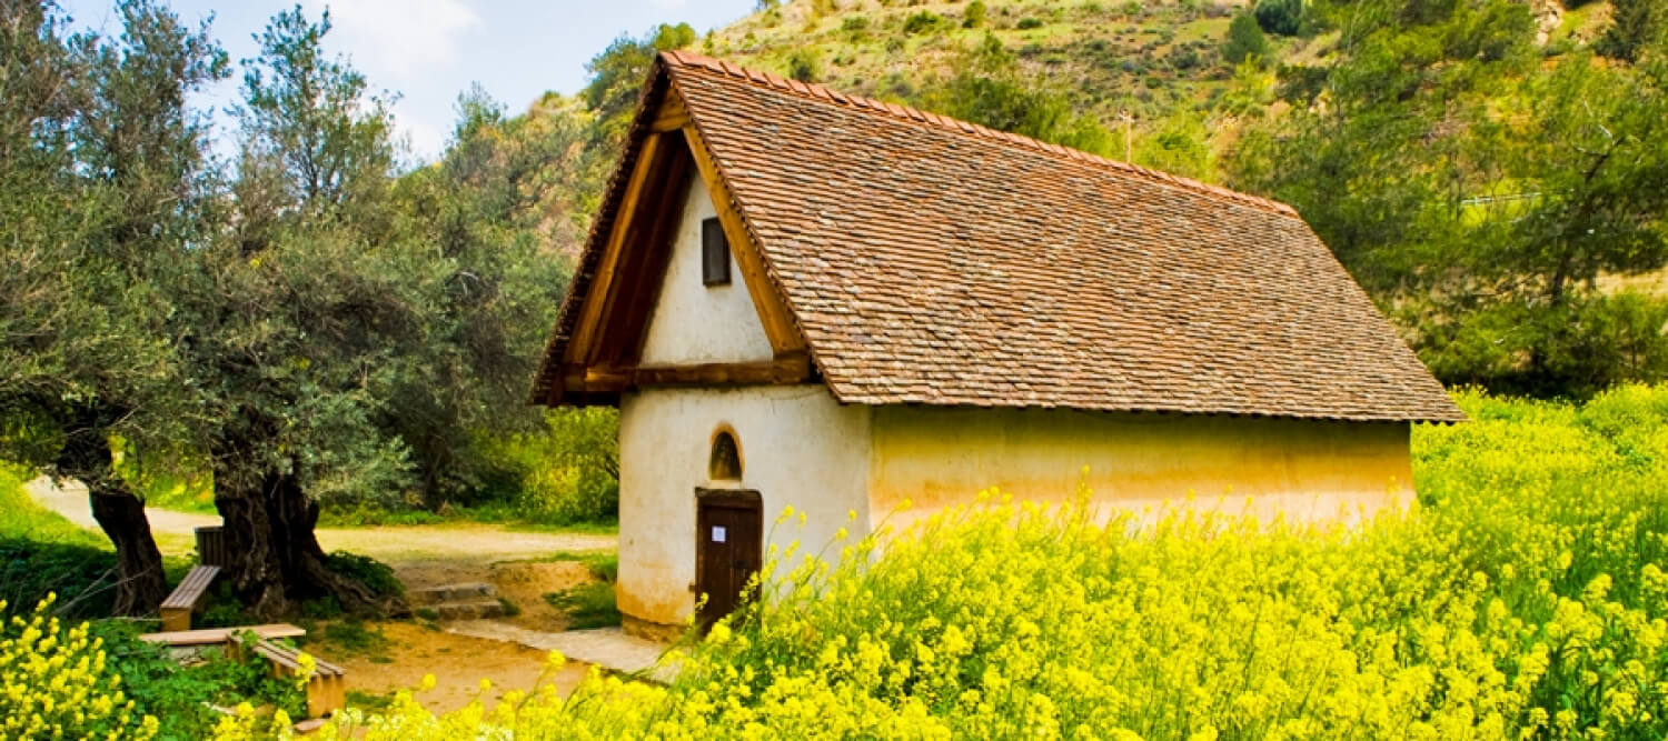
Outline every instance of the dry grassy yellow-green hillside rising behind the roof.
[[[792, 0], [692, 47], [784, 77], [921, 105], [924, 90], [954, 75], [989, 37], [1012, 55], [1021, 78], [1059, 90], [1078, 113], [1111, 130], [1106, 153], [1113, 157], [1126, 153], [1121, 127], [1128, 115], [1141, 162], [1141, 143], [1173, 130], [1204, 140], [1213, 153], [1221, 150], [1243, 118], [1261, 113], [1248, 112], [1246, 98], [1253, 107], [1281, 105], [1273, 95], [1276, 70], [1328, 63], [1336, 32], [1269, 33], [1266, 72], [1236, 82], [1224, 43], [1233, 17], [1246, 12], [1248, 3], [1221, 0]], [[1603, 2], [1566, 12], [1556, 0], [1536, 0], [1535, 15], [1546, 47], [1588, 42], [1610, 20]], [[1236, 85], [1256, 90], [1228, 100]], [[1173, 162], [1151, 148], [1148, 165], [1218, 180], [1208, 162]]]

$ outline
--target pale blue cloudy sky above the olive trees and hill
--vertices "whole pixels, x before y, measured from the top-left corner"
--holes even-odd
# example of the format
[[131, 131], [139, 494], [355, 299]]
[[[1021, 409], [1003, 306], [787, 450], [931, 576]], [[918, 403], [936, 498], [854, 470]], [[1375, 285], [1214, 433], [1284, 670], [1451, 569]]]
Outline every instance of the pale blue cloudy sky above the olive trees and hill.
[[[237, 100], [237, 62], [255, 55], [254, 33], [295, 0], [173, 0], [182, 20], [214, 17], [212, 33], [234, 62], [234, 75], [203, 95], [217, 110]], [[120, 33], [110, 0], [60, 0], [75, 25]], [[525, 110], [547, 90], [574, 93], [585, 62], [622, 33], [641, 37], [656, 23], [686, 22], [696, 32], [724, 27], [754, 0], [300, 0], [314, 18], [329, 5], [334, 28], [325, 48], [345, 53], [372, 90], [399, 93], [394, 118], [412, 155], [432, 158], [455, 120], [457, 95], [470, 83]], [[224, 115], [219, 117], [227, 125]]]

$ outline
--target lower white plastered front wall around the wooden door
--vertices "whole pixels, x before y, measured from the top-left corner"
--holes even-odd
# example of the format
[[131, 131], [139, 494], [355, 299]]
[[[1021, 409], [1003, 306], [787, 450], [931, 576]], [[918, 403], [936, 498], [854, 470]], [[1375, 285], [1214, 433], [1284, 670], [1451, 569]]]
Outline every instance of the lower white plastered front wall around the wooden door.
[[[822, 385], [649, 388], [620, 398], [620, 611], [677, 624], [694, 609], [696, 488], [712, 485], [707, 461], [721, 426], [736, 431], [739, 486], [762, 498], [766, 553], [794, 541], [816, 553], [851, 525], [852, 510], [866, 525], [869, 413], [841, 406]], [[806, 513], [804, 528], [797, 518], [772, 525], [789, 505]]]

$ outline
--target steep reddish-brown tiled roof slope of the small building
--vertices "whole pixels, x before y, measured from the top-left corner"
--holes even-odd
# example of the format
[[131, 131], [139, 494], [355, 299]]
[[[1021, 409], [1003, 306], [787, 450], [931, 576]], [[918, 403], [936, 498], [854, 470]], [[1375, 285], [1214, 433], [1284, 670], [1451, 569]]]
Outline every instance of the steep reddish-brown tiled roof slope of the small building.
[[1463, 418], [1291, 206], [682, 52], [667, 83], [844, 403]]

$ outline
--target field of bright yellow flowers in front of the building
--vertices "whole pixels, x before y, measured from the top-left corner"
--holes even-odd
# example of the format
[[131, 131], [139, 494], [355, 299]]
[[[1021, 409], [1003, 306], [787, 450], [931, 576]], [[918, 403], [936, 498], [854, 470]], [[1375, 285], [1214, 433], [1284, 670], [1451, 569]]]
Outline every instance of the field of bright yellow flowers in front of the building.
[[834, 564], [777, 555], [781, 586], [671, 688], [442, 718], [402, 696], [329, 733], [1663, 738], [1668, 388], [1460, 400], [1471, 423], [1414, 435], [1421, 506], [1363, 530], [1101, 526], [987, 493]]

